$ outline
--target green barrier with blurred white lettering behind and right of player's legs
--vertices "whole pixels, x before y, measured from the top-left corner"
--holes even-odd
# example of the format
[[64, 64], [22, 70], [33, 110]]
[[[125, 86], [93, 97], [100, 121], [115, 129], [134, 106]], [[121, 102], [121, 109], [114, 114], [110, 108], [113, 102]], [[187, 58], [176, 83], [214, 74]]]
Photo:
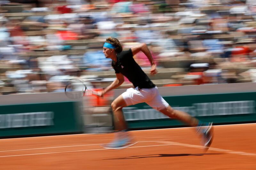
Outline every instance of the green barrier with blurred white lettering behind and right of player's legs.
[[[170, 96], [164, 99], [175, 109], [202, 121], [236, 123], [256, 121], [256, 92]], [[184, 125], [141, 103], [123, 109], [129, 128]]]

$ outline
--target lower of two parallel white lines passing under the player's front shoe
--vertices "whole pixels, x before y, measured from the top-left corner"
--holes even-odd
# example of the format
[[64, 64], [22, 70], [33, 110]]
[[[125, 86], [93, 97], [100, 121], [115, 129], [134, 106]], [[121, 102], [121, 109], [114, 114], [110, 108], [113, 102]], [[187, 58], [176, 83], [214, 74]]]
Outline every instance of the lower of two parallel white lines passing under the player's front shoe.
[[[132, 146], [128, 148], [143, 148], [143, 147], [154, 147], [154, 146], [166, 146], [173, 144], [161, 144], [161, 145], [147, 145], [147, 146]], [[127, 149], [127, 148], [126, 148]], [[53, 153], [68, 153], [68, 152], [83, 152], [83, 151], [99, 151], [99, 150], [110, 150], [110, 149], [89, 149], [89, 150], [77, 150], [77, 151], [62, 151], [62, 152], [47, 152], [47, 153], [32, 153], [32, 154], [23, 154], [23, 155], [6, 155], [1, 157], [17, 157], [17, 156], [29, 156], [29, 155], [44, 155], [44, 154], [53, 154]]]

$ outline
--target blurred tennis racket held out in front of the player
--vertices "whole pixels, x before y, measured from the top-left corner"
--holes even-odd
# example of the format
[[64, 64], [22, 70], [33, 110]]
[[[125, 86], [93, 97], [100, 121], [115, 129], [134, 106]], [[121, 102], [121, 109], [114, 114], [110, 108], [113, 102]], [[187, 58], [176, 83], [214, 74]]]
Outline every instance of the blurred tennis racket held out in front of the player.
[[88, 89], [82, 79], [72, 79], [65, 87], [65, 94], [72, 99], [78, 99], [84, 96], [99, 97], [99, 92]]

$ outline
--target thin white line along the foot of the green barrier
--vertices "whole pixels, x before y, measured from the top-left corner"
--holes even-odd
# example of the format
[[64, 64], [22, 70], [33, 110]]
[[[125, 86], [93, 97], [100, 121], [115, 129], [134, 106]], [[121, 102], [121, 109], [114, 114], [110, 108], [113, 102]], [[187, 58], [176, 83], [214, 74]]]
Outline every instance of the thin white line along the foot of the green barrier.
[[[254, 125], [256, 123], [241, 123], [241, 124], [229, 124], [229, 125], [214, 125], [214, 127], [218, 126], [236, 126], [236, 125]], [[193, 127], [182, 127], [182, 128], [193, 128]], [[165, 130], [165, 129], [181, 129], [181, 128], [162, 128], [162, 129], [145, 129], [145, 130], [132, 130], [132, 131], [148, 131], [148, 130]], [[106, 134], [106, 133], [102, 133]], [[43, 134], [41, 134], [43, 135]], [[71, 134], [71, 135], [101, 135], [97, 133], [90, 133], [90, 134]], [[0, 140], [12, 140], [12, 139], [23, 139], [23, 138], [38, 138], [38, 137], [56, 137], [56, 136], [71, 136], [71, 135], [50, 135], [50, 136], [34, 136], [34, 137], [16, 137], [16, 138], [4, 138]]]

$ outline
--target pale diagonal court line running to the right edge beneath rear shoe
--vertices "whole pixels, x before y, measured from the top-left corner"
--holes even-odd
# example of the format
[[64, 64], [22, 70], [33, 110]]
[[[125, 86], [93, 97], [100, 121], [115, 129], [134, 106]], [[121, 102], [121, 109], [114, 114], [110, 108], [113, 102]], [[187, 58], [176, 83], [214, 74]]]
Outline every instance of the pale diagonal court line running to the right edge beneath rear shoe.
[[[157, 143], [173, 144], [173, 145], [178, 145], [178, 146], [185, 146], [185, 147], [199, 148], [199, 149], [204, 149], [205, 148], [204, 146], [200, 146], [200, 145], [192, 145], [192, 144], [187, 144], [187, 143], [178, 143], [178, 142], [171, 142], [171, 141], [160, 141], [160, 142], [157, 142]], [[218, 152], [225, 152], [225, 153], [232, 153], [232, 154], [237, 154], [237, 155], [256, 156], [255, 153], [231, 151], [231, 150], [212, 148], [212, 147], [210, 147], [208, 150], [218, 151]]]

